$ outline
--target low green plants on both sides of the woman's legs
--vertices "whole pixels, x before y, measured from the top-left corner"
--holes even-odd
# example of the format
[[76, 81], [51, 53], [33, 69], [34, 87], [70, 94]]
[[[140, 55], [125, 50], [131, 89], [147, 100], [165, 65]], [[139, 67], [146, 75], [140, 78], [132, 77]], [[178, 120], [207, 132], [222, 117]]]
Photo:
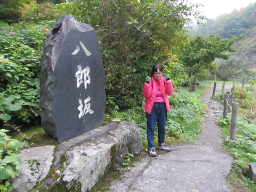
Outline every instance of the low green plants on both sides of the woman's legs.
[[[175, 108], [170, 110], [167, 115], [166, 137], [174, 136], [194, 140], [201, 130], [200, 120], [204, 113], [204, 105], [199, 94], [182, 89], [181, 93], [174, 92], [170, 96], [170, 104]], [[146, 142], [147, 120], [144, 104], [123, 112], [116, 111], [113, 114], [122, 120], [136, 123], [142, 134], [142, 140]]]

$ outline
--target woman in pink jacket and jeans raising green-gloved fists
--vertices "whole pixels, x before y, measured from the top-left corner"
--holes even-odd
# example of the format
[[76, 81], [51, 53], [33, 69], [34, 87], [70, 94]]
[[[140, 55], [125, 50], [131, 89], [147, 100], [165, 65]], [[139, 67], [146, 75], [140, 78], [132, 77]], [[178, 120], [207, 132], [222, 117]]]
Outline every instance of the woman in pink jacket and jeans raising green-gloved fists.
[[156, 122], [158, 126], [158, 149], [170, 152], [170, 148], [164, 143], [165, 124], [167, 112], [170, 111], [168, 95], [173, 93], [170, 75], [163, 77], [161, 65], [155, 65], [151, 71], [151, 78], [146, 76], [143, 95], [147, 98], [145, 102], [147, 118], [148, 152], [150, 156], [156, 156], [154, 145], [154, 130]]

